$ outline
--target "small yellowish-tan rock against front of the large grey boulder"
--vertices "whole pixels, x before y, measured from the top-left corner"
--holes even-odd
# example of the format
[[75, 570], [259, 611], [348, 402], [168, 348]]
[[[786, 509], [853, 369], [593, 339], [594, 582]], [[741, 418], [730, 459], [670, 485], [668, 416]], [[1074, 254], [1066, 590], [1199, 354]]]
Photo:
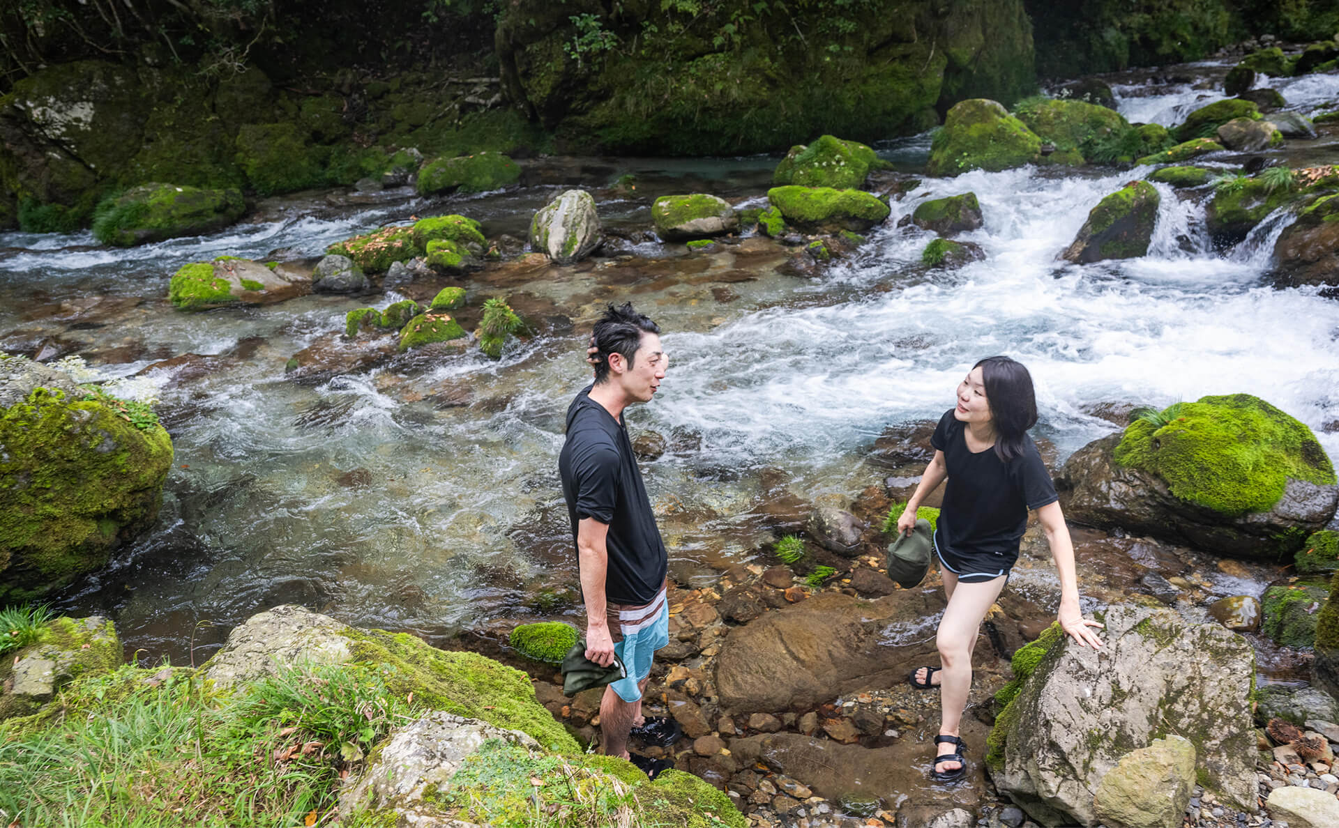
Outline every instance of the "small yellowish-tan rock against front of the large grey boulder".
[[1194, 745], [1180, 736], [1156, 738], [1121, 757], [1093, 795], [1107, 825], [1178, 828], [1194, 788]]

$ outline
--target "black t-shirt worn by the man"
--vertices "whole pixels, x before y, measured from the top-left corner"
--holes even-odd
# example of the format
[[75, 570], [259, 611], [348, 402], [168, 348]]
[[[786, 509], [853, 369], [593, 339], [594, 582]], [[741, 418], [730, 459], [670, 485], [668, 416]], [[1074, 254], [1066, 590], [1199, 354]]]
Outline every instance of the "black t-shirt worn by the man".
[[632, 455], [627, 425], [589, 393], [586, 385], [568, 407], [568, 440], [558, 455], [572, 536], [576, 538], [582, 518], [608, 524], [605, 598], [613, 603], [649, 603], [664, 586], [665, 544]]

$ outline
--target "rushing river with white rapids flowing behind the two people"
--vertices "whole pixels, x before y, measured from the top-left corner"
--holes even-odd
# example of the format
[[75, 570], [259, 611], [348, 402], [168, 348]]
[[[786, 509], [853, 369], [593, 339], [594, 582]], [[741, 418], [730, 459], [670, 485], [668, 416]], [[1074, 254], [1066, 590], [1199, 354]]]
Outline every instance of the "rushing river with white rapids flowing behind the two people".
[[[1268, 83], [1306, 114], [1339, 98], [1336, 75]], [[1130, 120], [1160, 123], [1221, 98], [1193, 87], [1114, 86]], [[880, 151], [913, 169], [928, 143], [917, 136]], [[1285, 152], [1339, 162], [1330, 138], [1289, 142]], [[573, 167], [565, 183], [603, 187], [637, 174], [637, 193], [599, 198], [600, 213], [611, 225], [649, 226], [649, 203], [664, 193], [763, 203], [775, 161], [605, 159]], [[1208, 163], [1227, 170], [1236, 161]], [[708, 582], [723, 562], [750, 562], [771, 539], [751, 519], [765, 470], [783, 470], [806, 500], [854, 496], [885, 474], [865, 459], [873, 440], [889, 425], [937, 417], [971, 364], [994, 353], [1031, 369], [1035, 433], [1062, 459], [1115, 428], [1093, 416], [1097, 404], [1162, 407], [1235, 392], [1292, 413], [1339, 457], [1339, 302], [1312, 289], [1276, 290], [1268, 278], [1289, 217], [1271, 217], [1236, 249], [1214, 251], [1202, 207], [1157, 185], [1149, 255], [1056, 261], [1103, 195], [1146, 173], [1028, 167], [927, 178], [893, 202], [856, 257], [819, 280], [767, 269], [714, 290], [710, 280], [688, 278], [698, 273], [690, 258], [664, 258], [655, 278], [633, 282], [599, 265], [548, 272], [516, 290], [552, 302], [573, 321], [570, 333], [510, 342], [498, 361], [471, 352], [432, 365], [392, 363], [315, 387], [287, 380], [285, 361], [341, 329], [366, 298], [187, 314], [166, 302], [171, 273], [221, 254], [312, 258], [410, 215], [462, 213], [489, 235], [524, 235], [558, 187], [362, 206], [296, 198], [262, 210], [258, 223], [131, 250], [96, 246], [88, 234], [0, 234], [0, 348], [27, 353], [50, 341], [51, 353], [83, 354], [103, 379], [183, 353], [221, 357], [189, 381], [158, 371], [122, 387], [157, 397], [173, 436], [163, 508], [151, 531], [55, 606], [108, 613], [127, 650], [197, 663], [233, 625], [289, 601], [430, 639], [528, 606], [576, 613], [556, 461], [564, 411], [588, 376], [585, 333], [605, 301], [631, 300], [651, 314], [671, 354], [656, 399], [628, 420], [635, 435], [653, 429], [670, 444], [643, 470], [674, 575], [686, 582]], [[927, 270], [919, 258], [932, 234], [897, 229], [897, 219], [924, 197], [968, 190], [986, 225], [963, 238], [986, 260]], [[639, 253], [680, 255], [671, 247]], [[747, 266], [731, 255], [716, 254], [708, 270]], [[471, 285], [470, 301], [506, 293]], [[125, 310], [102, 326], [56, 321], [62, 302], [92, 296], [125, 300]], [[441, 388], [466, 404], [435, 405], [430, 392]]]

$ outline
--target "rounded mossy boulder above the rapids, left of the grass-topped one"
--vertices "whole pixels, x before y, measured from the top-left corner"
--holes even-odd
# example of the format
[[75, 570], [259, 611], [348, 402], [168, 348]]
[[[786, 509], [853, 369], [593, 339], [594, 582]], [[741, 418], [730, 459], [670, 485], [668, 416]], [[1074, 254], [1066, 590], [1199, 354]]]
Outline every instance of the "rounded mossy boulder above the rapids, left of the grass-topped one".
[[931, 175], [959, 175], [968, 170], [1007, 170], [1036, 163], [1042, 139], [1002, 104], [976, 98], [953, 104], [944, 127], [931, 139]]

